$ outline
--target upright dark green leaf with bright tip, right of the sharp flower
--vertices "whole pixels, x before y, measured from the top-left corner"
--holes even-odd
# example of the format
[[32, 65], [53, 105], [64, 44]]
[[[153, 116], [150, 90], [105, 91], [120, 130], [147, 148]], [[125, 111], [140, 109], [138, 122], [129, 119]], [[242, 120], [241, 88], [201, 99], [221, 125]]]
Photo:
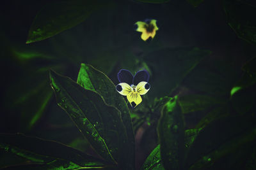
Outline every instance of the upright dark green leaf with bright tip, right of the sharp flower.
[[164, 106], [157, 125], [161, 158], [166, 169], [184, 166], [184, 118], [177, 103], [178, 96]]

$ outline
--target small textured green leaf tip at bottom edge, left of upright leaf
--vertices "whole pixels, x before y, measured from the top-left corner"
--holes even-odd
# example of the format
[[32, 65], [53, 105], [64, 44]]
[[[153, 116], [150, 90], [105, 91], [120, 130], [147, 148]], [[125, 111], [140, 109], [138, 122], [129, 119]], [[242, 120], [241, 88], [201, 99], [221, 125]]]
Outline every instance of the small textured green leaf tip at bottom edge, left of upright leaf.
[[161, 160], [160, 155], [160, 145], [157, 145], [156, 148], [148, 155], [147, 159], [145, 160], [143, 166], [141, 167], [141, 170], [156, 170], [156, 169], [163, 169], [163, 163]]

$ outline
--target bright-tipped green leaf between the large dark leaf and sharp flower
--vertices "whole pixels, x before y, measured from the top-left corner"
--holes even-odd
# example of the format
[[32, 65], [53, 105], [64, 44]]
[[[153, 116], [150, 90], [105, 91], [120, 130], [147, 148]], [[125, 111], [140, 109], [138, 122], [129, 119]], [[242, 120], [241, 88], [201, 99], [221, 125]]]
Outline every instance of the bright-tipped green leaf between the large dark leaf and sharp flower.
[[[127, 152], [123, 155], [127, 167], [134, 167], [134, 134], [132, 129], [132, 122], [127, 104], [125, 103], [124, 97], [116, 92], [115, 85], [106, 76], [106, 74], [95, 69], [89, 64], [81, 64], [79, 74], [77, 77], [77, 83], [87, 90], [93, 90], [103, 97], [104, 101], [115, 106], [121, 112], [122, 122], [125, 125], [126, 133], [128, 136], [128, 142], [126, 143], [125, 150]], [[126, 164], [126, 163], [125, 163]]]

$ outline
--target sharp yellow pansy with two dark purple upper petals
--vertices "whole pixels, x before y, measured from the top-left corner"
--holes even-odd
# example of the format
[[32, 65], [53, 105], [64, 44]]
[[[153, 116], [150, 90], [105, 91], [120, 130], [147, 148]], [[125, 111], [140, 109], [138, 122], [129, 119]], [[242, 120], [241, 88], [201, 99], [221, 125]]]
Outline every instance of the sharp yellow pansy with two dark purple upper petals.
[[116, 85], [116, 91], [127, 96], [132, 108], [138, 106], [142, 101], [141, 95], [146, 94], [150, 89], [148, 72], [146, 70], [138, 71], [133, 76], [127, 69], [120, 69], [117, 78], [120, 83]]

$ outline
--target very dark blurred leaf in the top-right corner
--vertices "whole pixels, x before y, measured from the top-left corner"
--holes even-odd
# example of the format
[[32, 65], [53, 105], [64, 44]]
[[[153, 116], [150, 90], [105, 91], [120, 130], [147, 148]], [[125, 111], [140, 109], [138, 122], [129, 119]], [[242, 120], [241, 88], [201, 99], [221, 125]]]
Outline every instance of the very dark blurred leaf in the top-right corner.
[[228, 25], [237, 36], [245, 41], [256, 44], [256, 7], [239, 0], [225, 0], [224, 11]]

